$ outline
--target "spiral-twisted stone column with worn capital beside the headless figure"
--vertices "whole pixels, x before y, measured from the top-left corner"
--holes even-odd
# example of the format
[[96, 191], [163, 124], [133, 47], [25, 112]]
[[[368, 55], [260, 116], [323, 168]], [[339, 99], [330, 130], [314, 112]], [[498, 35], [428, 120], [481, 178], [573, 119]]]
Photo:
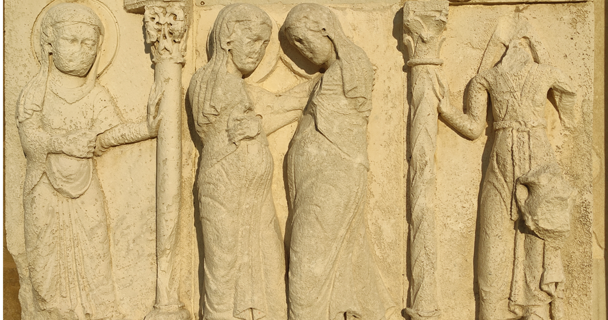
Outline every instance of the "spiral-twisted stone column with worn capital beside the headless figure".
[[409, 49], [412, 100], [409, 107], [409, 302], [413, 320], [438, 319], [437, 235], [435, 231], [435, 149], [437, 149], [437, 78], [441, 36], [448, 1], [407, 1], [403, 7], [404, 43]]

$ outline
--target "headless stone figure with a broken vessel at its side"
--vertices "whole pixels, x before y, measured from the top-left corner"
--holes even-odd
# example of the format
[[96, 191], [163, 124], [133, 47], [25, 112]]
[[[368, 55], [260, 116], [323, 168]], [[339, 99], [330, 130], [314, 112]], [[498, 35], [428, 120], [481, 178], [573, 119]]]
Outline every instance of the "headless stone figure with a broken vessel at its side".
[[445, 79], [437, 90], [441, 116], [471, 139], [485, 128], [488, 93], [492, 104], [496, 140], [480, 208], [480, 316], [563, 319], [559, 248], [570, 230], [576, 191], [562, 178], [544, 107], [550, 91], [568, 130], [576, 123], [576, 92], [564, 73], [545, 64], [544, 47], [519, 14], [501, 21], [487, 52], [501, 44], [506, 53], [500, 62], [471, 80], [467, 114], [449, 104]]

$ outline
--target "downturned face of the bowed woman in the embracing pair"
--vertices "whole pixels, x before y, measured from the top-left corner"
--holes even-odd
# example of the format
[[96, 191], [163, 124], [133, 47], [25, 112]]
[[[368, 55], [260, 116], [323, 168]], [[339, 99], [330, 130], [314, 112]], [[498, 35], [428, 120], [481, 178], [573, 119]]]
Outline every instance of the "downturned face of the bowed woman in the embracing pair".
[[327, 63], [336, 54], [324, 29], [314, 31], [305, 26], [294, 26], [286, 30], [286, 36], [292, 46], [317, 66]]

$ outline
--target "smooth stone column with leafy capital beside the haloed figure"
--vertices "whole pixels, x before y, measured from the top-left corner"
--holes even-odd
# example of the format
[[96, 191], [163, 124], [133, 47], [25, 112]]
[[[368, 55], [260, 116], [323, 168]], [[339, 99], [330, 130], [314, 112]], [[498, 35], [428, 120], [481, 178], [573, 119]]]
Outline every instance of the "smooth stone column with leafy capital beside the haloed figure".
[[[125, 0], [142, 13], [153, 53], [154, 88], [163, 90], [156, 141], [156, 303], [145, 320], [187, 320], [179, 301], [179, 220], [182, 183], [182, 67], [188, 7], [182, 1]], [[154, 89], [153, 89], [154, 91]], [[160, 112], [159, 112], [160, 113]]]

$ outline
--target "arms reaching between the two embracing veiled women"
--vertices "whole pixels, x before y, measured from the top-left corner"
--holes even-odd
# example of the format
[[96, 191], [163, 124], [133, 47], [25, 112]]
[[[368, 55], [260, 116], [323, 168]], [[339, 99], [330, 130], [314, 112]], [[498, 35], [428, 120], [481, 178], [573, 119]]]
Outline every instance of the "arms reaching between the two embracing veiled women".
[[255, 112], [262, 116], [262, 126], [267, 135], [300, 118], [318, 80], [318, 77], [313, 77], [283, 94], [273, 94], [261, 87], [247, 85], [247, 92], [254, 101]]

